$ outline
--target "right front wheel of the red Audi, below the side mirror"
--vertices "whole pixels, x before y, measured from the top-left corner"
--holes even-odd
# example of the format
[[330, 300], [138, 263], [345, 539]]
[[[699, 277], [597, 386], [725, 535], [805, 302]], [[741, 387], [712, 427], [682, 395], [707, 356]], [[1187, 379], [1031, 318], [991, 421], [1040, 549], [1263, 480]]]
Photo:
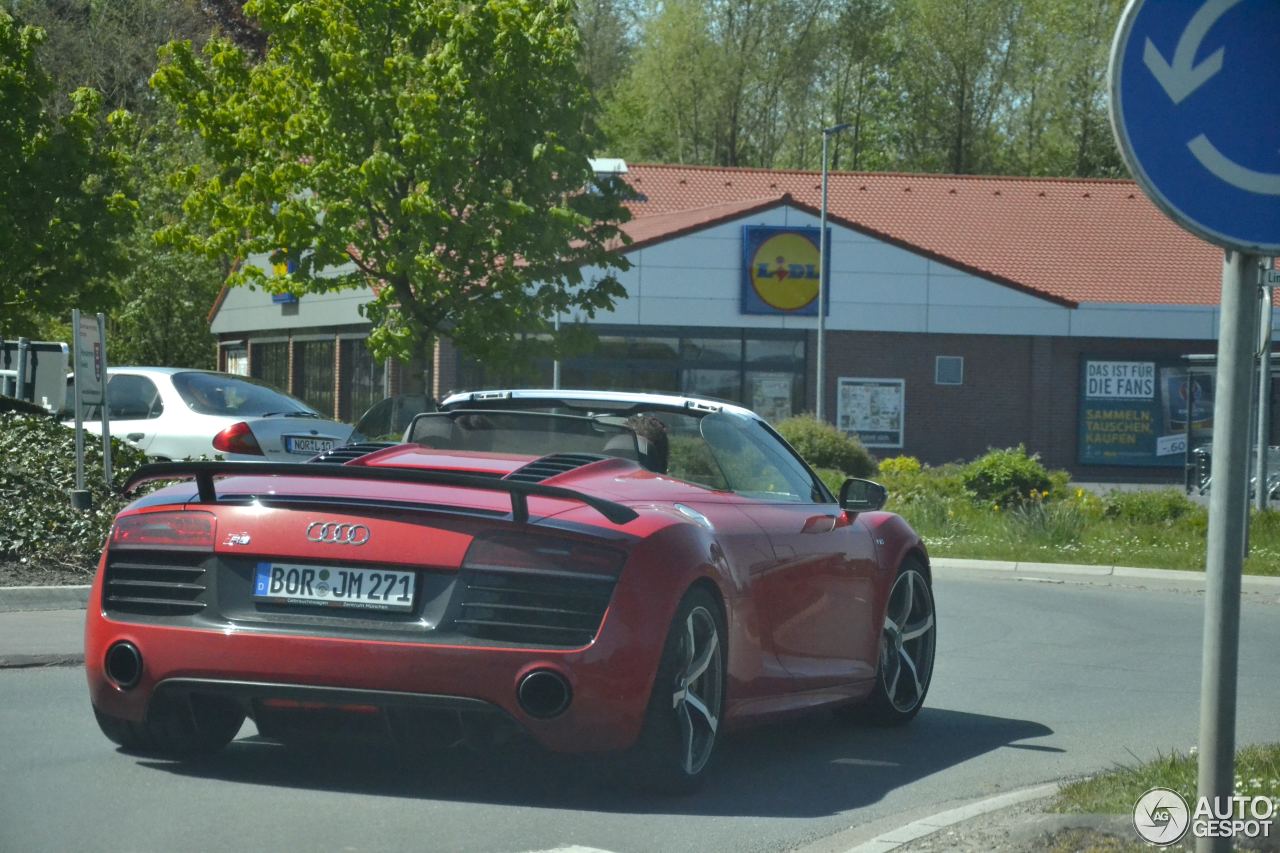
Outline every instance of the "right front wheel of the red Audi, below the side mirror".
[[890, 588], [881, 629], [876, 685], [859, 704], [840, 708], [840, 717], [896, 726], [910, 722], [924, 706], [937, 652], [933, 585], [916, 557], [899, 566]]

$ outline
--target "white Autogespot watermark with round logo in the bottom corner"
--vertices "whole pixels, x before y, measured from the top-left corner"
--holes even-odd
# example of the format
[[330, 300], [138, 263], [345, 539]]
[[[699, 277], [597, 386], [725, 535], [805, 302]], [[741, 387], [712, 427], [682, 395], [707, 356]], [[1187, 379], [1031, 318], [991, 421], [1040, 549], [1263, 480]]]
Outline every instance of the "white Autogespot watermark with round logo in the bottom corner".
[[1133, 827], [1142, 840], [1167, 847], [1194, 838], [1271, 838], [1280, 804], [1271, 797], [1201, 797], [1192, 811], [1175, 790], [1152, 788], [1133, 807]]

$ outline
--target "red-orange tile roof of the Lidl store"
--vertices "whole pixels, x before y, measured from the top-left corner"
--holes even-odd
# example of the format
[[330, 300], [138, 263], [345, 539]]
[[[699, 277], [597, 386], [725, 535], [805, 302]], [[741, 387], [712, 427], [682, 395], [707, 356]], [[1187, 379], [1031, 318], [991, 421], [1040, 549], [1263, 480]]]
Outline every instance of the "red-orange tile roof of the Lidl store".
[[[780, 204], [817, 211], [817, 172], [628, 164], [636, 245]], [[1222, 251], [1132, 181], [832, 173], [828, 216], [1055, 302], [1217, 305]]]

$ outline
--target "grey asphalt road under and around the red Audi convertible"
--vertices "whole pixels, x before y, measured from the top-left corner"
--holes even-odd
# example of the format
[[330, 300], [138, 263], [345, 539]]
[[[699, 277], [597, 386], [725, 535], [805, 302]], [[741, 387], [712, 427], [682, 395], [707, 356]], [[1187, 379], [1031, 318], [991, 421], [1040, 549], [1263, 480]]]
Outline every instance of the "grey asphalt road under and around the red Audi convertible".
[[[838, 850], [982, 795], [1196, 743], [1197, 592], [948, 573], [909, 727], [827, 715], [722, 744], [687, 799], [508, 752], [294, 753], [247, 725], [198, 763], [127, 756], [81, 671], [0, 671], [0, 850]], [[1280, 740], [1280, 594], [1247, 593], [1239, 742]]]

